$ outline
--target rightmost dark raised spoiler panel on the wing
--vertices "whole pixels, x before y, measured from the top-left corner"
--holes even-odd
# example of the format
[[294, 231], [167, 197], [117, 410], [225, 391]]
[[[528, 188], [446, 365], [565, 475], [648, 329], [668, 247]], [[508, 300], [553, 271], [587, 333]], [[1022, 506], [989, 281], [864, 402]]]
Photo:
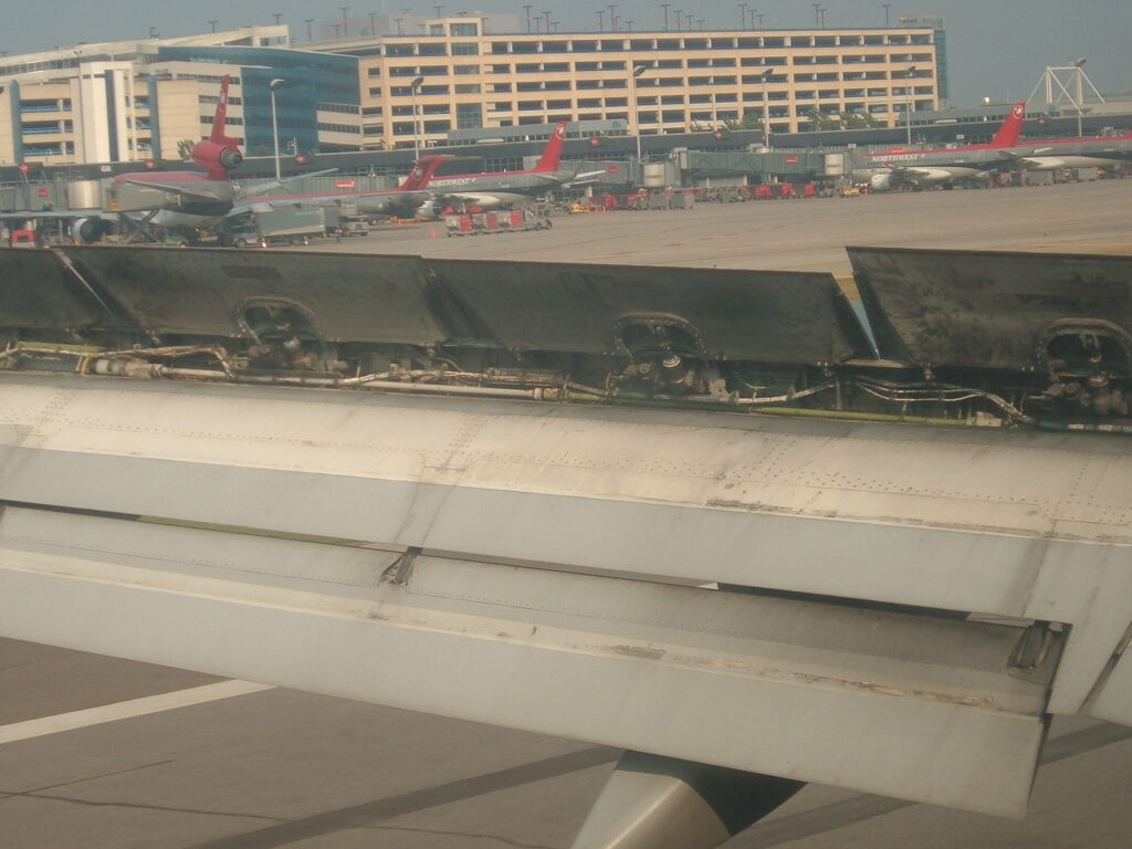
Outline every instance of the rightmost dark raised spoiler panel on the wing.
[[[1021, 372], [1099, 352], [1127, 376], [1132, 257], [846, 250], [882, 357]], [[1069, 350], [1081, 334], [1101, 350]]]

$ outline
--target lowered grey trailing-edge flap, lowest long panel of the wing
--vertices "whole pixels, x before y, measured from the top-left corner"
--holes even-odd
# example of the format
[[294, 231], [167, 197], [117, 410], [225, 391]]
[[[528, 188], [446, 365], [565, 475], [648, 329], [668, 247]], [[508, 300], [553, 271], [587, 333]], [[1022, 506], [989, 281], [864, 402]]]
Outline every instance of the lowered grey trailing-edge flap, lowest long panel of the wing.
[[1045, 728], [1047, 683], [1006, 672], [1001, 625], [45, 511], [0, 517], [0, 623], [1000, 815], [1024, 811]]

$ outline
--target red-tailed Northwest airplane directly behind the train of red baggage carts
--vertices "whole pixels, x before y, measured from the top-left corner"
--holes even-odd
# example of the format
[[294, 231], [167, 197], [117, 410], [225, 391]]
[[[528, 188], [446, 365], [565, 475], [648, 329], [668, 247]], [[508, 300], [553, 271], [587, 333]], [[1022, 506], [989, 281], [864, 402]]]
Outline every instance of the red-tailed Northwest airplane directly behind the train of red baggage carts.
[[431, 214], [454, 204], [484, 208], [509, 206], [544, 195], [550, 189], [594, 179], [604, 173], [604, 171], [578, 173], [559, 169], [565, 138], [566, 121], [559, 121], [538, 163], [525, 171], [448, 174], [427, 180], [424, 188], [435, 195], [435, 200], [422, 208], [421, 214]]

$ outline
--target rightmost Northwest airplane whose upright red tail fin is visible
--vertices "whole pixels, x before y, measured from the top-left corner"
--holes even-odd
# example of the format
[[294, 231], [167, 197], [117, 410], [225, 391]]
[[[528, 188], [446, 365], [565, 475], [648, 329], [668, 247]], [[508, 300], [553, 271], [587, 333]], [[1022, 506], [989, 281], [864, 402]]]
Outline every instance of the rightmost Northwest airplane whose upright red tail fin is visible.
[[947, 149], [909, 151], [893, 148], [864, 156], [867, 163], [857, 174], [868, 178], [873, 191], [887, 191], [900, 186], [924, 188], [942, 185], [951, 188], [954, 180], [985, 179], [989, 171], [1010, 161], [1006, 148], [1018, 144], [1026, 118], [1026, 103], [1015, 103], [989, 143]]

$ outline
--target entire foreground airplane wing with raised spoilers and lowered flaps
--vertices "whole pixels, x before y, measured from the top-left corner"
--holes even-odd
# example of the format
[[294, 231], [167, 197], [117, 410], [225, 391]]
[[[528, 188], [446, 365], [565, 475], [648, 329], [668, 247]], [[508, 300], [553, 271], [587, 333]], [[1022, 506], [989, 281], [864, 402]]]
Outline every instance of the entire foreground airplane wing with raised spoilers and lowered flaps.
[[878, 351], [823, 274], [0, 251], [0, 633], [625, 748], [577, 849], [1020, 816], [1132, 724], [1132, 260], [850, 256]]

